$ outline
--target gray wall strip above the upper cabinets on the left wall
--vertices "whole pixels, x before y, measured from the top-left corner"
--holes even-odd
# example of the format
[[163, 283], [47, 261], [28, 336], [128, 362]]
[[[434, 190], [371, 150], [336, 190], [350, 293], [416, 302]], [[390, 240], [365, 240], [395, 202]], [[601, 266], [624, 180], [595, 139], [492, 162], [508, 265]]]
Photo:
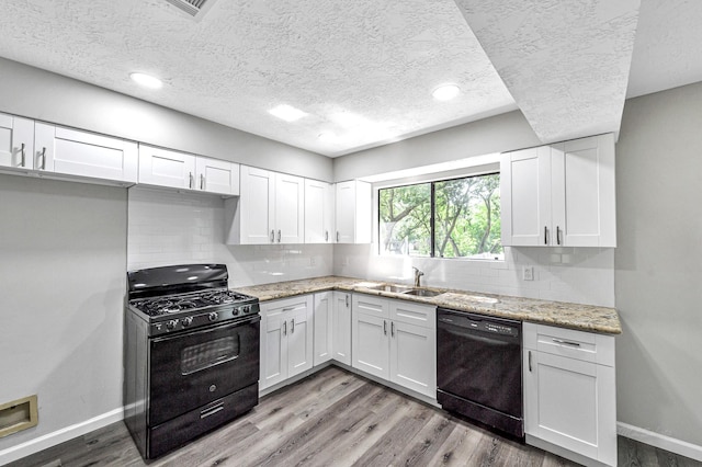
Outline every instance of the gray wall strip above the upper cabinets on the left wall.
[[332, 161], [250, 133], [0, 58], [0, 112], [310, 179]]

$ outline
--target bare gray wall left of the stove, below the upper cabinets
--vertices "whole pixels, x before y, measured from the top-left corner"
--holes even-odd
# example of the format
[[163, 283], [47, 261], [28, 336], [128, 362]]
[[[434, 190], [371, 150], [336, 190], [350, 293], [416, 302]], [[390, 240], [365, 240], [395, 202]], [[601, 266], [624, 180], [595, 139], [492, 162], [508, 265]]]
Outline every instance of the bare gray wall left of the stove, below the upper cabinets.
[[0, 403], [39, 409], [0, 452], [122, 407], [126, 193], [0, 174]]

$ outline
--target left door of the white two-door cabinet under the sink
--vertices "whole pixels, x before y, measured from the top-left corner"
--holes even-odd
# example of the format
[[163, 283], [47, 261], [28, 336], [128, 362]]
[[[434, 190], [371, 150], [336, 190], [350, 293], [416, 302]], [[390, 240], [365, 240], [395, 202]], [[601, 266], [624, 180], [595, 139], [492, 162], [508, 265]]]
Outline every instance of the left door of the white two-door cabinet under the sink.
[[353, 367], [389, 379], [389, 320], [353, 310]]

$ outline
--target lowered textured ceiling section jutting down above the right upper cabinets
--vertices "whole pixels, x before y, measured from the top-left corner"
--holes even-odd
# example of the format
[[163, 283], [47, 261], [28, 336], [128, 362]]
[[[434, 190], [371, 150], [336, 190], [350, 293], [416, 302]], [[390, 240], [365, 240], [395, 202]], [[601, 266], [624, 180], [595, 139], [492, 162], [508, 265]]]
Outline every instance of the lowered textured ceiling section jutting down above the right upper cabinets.
[[456, 0], [543, 143], [619, 132], [639, 0]]

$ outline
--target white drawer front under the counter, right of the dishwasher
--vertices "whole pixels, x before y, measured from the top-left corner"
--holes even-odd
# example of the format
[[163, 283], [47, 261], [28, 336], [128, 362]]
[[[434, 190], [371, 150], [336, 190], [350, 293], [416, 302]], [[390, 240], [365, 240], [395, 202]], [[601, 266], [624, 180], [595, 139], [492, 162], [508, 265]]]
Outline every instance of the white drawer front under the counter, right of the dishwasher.
[[568, 358], [614, 366], [612, 335], [524, 322], [524, 348]]

